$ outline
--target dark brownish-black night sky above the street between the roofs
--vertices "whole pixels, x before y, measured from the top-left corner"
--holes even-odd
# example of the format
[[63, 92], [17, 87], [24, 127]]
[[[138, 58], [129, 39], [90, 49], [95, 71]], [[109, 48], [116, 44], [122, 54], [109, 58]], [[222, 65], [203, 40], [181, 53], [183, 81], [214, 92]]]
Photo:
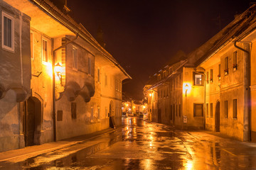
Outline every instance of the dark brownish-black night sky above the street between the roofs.
[[250, 0], [68, 0], [70, 16], [93, 37], [102, 28], [106, 50], [133, 78], [123, 91], [137, 100], [178, 50], [195, 50], [249, 6]]

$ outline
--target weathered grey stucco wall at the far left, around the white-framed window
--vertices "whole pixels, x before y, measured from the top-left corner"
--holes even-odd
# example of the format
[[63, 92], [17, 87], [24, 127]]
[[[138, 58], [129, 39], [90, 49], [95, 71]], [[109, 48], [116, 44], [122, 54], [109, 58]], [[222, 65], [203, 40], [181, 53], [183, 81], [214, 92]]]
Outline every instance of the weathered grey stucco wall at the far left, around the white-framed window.
[[0, 23], [2, 12], [14, 21], [14, 51], [4, 49], [0, 39], [0, 87], [6, 92], [0, 96], [0, 152], [24, 147], [18, 102], [31, 89], [30, 18], [4, 1], [0, 1]]

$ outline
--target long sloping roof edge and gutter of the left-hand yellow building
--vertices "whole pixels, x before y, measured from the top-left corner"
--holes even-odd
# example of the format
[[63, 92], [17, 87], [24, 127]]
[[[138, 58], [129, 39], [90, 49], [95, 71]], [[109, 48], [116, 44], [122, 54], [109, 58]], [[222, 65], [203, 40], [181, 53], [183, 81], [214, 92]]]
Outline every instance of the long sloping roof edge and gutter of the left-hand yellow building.
[[[86, 42], [88, 42], [90, 45], [92, 45], [92, 47], [95, 47], [95, 49], [97, 49], [102, 55], [104, 55], [107, 60], [109, 60], [110, 62], [112, 62], [115, 66], [117, 66], [123, 73], [124, 75], [126, 75], [129, 79], [132, 79], [132, 77], [129, 76], [129, 74], [127, 74], [127, 72], [125, 72], [125, 70], [122, 68], [122, 66], [114, 60], [114, 58], [110, 57], [110, 54], [108, 52], [105, 51], [105, 49], [103, 47], [101, 47], [100, 45], [97, 45], [97, 42], [91, 42], [92, 40], [89, 40], [87, 38], [87, 35], [85, 35], [85, 33], [82, 33], [82, 30], [80, 30], [77, 26], [74, 26], [73, 23], [71, 23], [70, 20], [68, 20], [67, 18], [65, 18], [63, 16], [63, 13], [60, 14], [58, 11], [56, 11], [52, 6], [50, 6], [48, 4], [48, 6], [50, 7], [46, 7], [44, 6], [44, 4], [47, 4], [47, 2], [45, 1], [40, 1], [40, 0], [29, 0], [32, 1], [33, 3], [37, 4], [38, 6], [40, 6], [41, 8], [43, 8], [44, 11], [46, 11], [48, 14], [50, 14], [50, 16], [52, 16], [53, 18], [55, 18], [58, 22], [60, 22], [61, 24], [63, 24], [63, 26], [67, 27], [68, 29], [70, 29], [73, 33], [78, 34], [78, 36], [80, 38], [82, 38], [83, 40], [85, 40]], [[53, 11], [54, 10], [54, 11]], [[55, 14], [57, 13], [58, 16]], [[65, 21], [66, 20], [66, 21]], [[101, 48], [101, 49], [100, 49]]]

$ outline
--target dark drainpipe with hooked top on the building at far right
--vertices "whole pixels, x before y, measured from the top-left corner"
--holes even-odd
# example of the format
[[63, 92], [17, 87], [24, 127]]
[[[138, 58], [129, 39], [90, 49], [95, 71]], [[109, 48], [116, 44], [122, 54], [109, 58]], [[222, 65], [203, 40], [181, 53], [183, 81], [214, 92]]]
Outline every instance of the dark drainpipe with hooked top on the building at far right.
[[245, 62], [244, 62], [244, 67], [245, 67], [245, 72], [244, 72], [244, 100], [245, 100], [245, 107], [244, 107], [244, 125], [243, 125], [243, 130], [244, 130], [244, 135], [243, 135], [243, 140], [244, 141], [250, 141], [250, 128], [251, 128], [251, 116], [250, 116], [250, 45], [249, 43], [244, 43], [245, 49], [242, 47], [238, 47], [236, 45], [237, 41], [234, 41], [234, 46], [238, 48], [239, 50], [242, 50], [244, 53], [245, 57]]

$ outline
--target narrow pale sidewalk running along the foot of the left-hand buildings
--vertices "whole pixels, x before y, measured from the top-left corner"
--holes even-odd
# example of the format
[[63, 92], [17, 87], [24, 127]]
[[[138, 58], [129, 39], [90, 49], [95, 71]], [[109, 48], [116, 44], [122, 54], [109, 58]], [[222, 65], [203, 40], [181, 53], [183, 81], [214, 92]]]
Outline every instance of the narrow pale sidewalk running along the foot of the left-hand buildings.
[[39, 154], [44, 154], [65, 147], [70, 147], [78, 143], [86, 142], [87, 140], [91, 140], [94, 137], [99, 137], [100, 135], [104, 135], [105, 133], [114, 132], [116, 130], [119, 130], [120, 128], [122, 128], [122, 126], [119, 126], [116, 129], [108, 128], [98, 132], [93, 132], [88, 135], [72, 137], [70, 139], [60, 140], [57, 142], [48, 142], [43, 145], [34, 145], [22, 149], [14, 149], [6, 152], [0, 152], [0, 162], [8, 161], [10, 159], [17, 159], [18, 157], [35, 157]]

